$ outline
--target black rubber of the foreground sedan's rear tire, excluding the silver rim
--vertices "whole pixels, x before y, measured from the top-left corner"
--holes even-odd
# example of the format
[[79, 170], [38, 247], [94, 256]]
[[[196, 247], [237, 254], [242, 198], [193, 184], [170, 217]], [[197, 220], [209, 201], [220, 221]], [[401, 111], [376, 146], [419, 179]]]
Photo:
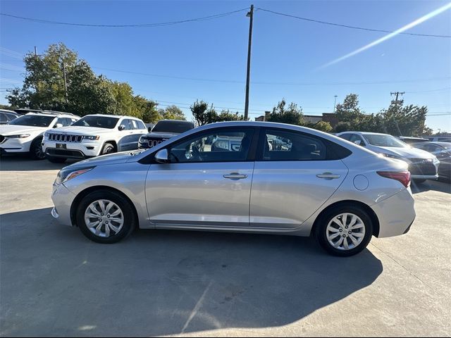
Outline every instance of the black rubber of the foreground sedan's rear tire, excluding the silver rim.
[[[352, 249], [348, 249], [348, 250], [335, 248], [332, 244], [330, 244], [330, 242], [328, 241], [328, 238], [327, 238], [328, 224], [330, 223], [331, 220], [333, 220], [333, 218], [335, 218], [335, 216], [338, 216], [342, 213], [352, 213], [354, 215], [357, 215], [364, 223], [365, 233], [364, 233], [362, 242], [359, 242], [359, 244], [357, 246], [354, 246]], [[349, 220], [347, 221], [347, 223], [348, 224], [350, 223]], [[348, 229], [348, 228], [346, 228], [346, 229]], [[344, 230], [344, 229], [342, 229], [342, 230]], [[340, 230], [340, 231], [342, 231], [342, 230]], [[340, 232], [339, 237], [345, 236], [346, 231], [347, 230], [344, 230], [344, 232]], [[359, 230], [359, 231], [362, 231], [362, 230]], [[341, 233], [343, 233], [343, 235]], [[314, 234], [315, 234], [315, 237], [318, 240], [319, 244], [321, 245], [321, 247], [324, 250], [326, 250], [328, 253], [332, 254], [333, 256], [340, 256], [340, 257], [354, 256], [357, 253], [364, 250], [366, 248], [366, 246], [368, 246], [368, 244], [371, 240], [371, 237], [373, 235], [373, 222], [371, 220], [371, 217], [364, 210], [364, 208], [361, 208], [360, 206], [353, 206], [352, 204], [342, 204], [339, 206], [332, 207], [329, 210], [327, 210], [325, 213], [320, 215], [320, 218], [316, 221]], [[349, 236], [349, 235], [346, 234], [346, 236]], [[348, 243], [350, 243], [351, 246], [353, 246], [352, 241], [350, 241], [350, 238], [349, 239], [348, 239], [348, 237], [344, 237], [344, 238], [345, 238], [344, 239], [345, 241], [347, 241]]]

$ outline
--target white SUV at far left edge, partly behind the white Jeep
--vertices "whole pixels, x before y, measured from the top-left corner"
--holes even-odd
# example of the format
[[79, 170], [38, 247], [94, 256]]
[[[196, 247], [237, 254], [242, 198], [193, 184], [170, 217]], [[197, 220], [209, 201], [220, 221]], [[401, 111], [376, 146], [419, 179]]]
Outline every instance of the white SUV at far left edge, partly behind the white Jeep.
[[0, 125], [0, 153], [29, 153], [35, 160], [45, 158], [42, 152], [42, 136], [51, 128], [71, 125], [80, 117], [57, 111], [27, 113], [7, 125]]

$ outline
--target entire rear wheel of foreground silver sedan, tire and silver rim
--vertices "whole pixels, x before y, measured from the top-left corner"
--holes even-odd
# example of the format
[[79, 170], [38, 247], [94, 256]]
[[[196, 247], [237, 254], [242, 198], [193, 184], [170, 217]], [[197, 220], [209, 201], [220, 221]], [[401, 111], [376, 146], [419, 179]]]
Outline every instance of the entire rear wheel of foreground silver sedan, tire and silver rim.
[[353, 256], [368, 246], [373, 235], [373, 223], [359, 206], [337, 206], [321, 215], [315, 235], [328, 253]]

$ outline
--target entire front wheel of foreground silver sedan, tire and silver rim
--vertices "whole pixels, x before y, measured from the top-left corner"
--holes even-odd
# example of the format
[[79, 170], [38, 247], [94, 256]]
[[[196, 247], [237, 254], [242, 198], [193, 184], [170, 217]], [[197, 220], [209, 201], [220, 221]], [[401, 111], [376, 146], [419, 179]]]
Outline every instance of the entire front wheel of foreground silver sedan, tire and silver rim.
[[85, 196], [78, 206], [76, 218], [87, 238], [104, 244], [121, 241], [132, 232], [136, 223], [130, 201], [108, 190]]

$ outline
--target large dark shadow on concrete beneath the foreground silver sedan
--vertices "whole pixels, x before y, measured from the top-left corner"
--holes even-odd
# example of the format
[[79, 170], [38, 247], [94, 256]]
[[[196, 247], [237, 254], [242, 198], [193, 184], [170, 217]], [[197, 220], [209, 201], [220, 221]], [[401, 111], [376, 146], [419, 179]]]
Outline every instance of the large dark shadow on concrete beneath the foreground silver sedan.
[[50, 208], [0, 216], [2, 336], [156, 336], [293, 323], [372, 284], [364, 250], [313, 239], [140, 230], [89, 242]]

